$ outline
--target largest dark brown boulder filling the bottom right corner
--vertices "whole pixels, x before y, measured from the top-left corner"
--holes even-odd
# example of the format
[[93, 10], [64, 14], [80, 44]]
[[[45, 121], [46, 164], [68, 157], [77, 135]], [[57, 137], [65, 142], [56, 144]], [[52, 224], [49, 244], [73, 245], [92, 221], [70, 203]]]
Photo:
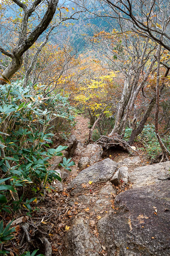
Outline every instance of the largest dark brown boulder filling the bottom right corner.
[[97, 225], [108, 256], [170, 255], [169, 181], [122, 192], [115, 207]]

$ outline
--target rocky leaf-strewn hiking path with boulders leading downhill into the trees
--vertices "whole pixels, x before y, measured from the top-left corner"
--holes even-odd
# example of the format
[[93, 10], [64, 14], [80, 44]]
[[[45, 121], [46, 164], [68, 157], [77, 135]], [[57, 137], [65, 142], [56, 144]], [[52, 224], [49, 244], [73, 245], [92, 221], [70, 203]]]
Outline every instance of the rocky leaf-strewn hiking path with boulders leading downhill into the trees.
[[139, 156], [103, 155], [100, 146], [83, 144], [88, 120], [77, 120], [76, 165], [55, 197], [53, 255], [170, 255], [170, 183], [158, 180], [170, 163], [142, 166]]

